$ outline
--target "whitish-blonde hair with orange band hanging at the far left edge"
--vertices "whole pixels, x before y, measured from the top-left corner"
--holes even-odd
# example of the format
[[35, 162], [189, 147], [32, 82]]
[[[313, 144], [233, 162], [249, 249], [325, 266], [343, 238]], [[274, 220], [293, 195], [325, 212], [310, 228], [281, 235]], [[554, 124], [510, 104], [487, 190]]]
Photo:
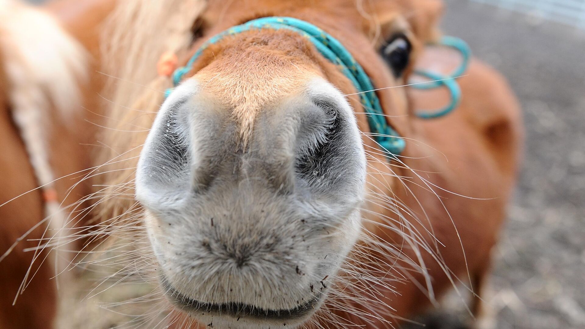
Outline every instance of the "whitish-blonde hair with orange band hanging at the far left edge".
[[0, 92], [8, 96], [12, 119], [46, 198], [49, 227], [61, 236], [67, 224], [59, 201], [51, 197], [57, 193], [57, 177], [51, 167], [50, 130], [56, 122], [70, 124], [81, 112], [88, 54], [51, 15], [13, 0], [0, 0], [0, 52], [8, 85]]

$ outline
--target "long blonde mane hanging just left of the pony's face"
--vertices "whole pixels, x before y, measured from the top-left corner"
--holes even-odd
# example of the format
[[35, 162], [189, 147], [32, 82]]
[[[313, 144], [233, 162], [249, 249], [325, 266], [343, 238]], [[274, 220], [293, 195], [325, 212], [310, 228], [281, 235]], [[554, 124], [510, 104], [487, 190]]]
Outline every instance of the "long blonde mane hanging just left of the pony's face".
[[[164, 100], [171, 79], [157, 75], [157, 62], [166, 52], [179, 58], [188, 51], [192, 27], [205, 0], [119, 1], [102, 35], [108, 126], [105, 149], [97, 165], [108, 165], [105, 175], [110, 192], [132, 184], [134, 166], [154, 115]], [[128, 161], [122, 161], [128, 159]], [[105, 198], [108, 198], [106, 196]], [[104, 218], [129, 208], [128, 200], [111, 199], [102, 208]]]

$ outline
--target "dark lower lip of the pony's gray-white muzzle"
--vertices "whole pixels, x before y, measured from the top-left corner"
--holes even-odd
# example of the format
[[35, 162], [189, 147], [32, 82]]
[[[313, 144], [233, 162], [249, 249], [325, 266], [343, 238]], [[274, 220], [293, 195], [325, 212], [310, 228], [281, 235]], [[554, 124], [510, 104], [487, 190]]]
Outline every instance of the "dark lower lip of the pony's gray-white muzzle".
[[292, 308], [292, 309], [262, 309], [257, 306], [253, 306], [245, 303], [206, 303], [204, 301], [198, 301], [191, 299], [178, 292], [166, 278], [162, 277], [161, 282], [166, 291], [166, 296], [174, 304], [180, 307], [181, 311], [192, 314], [205, 315], [216, 314], [218, 316], [232, 316], [235, 318], [254, 318], [255, 320], [294, 320], [299, 318], [307, 317], [313, 313], [321, 301], [323, 294], [319, 292], [316, 296], [310, 300]]

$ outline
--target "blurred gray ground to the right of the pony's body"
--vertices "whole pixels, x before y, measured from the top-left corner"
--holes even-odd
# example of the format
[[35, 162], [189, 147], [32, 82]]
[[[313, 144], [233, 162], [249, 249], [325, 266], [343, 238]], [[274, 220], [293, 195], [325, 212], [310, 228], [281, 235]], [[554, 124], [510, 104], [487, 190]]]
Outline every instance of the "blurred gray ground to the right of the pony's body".
[[585, 328], [585, 31], [448, 0], [443, 30], [510, 81], [524, 167], [497, 249], [498, 329]]

